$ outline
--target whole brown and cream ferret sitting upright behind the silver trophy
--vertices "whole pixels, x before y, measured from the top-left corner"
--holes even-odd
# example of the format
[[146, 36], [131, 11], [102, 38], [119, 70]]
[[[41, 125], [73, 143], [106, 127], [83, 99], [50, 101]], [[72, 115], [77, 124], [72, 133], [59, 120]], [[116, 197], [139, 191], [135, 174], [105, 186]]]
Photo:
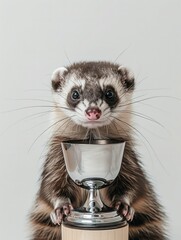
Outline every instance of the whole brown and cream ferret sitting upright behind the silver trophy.
[[126, 141], [119, 174], [101, 198], [129, 222], [129, 240], [167, 239], [165, 214], [135, 151], [132, 72], [110, 62], [78, 62], [56, 69], [51, 83], [53, 133], [30, 213], [31, 239], [60, 240], [63, 218], [86, 199], [67, 174], [61, 148], [77, 139]]

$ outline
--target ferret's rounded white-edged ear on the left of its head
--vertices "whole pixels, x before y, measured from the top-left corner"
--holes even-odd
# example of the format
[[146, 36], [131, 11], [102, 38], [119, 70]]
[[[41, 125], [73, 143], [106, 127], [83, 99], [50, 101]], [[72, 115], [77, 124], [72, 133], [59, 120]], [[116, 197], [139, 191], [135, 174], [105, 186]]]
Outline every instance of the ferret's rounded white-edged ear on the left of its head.
[[57, 68], [51, 77], [53, 90], [57, 91], [61, 88], [61, 83], [64, 80], [64, 73], [68, 71], [65, 67]]

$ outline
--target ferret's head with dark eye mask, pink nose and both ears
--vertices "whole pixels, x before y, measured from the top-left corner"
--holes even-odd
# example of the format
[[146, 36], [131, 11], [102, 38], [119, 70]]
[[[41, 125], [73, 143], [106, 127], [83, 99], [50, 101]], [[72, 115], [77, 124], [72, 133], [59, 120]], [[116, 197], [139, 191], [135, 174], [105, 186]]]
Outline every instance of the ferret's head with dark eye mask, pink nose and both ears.
[[134, 77], [117, 64], [80, 62], [55, 70], [52, 88], [58, 119], [93, 129], [126, 121]]

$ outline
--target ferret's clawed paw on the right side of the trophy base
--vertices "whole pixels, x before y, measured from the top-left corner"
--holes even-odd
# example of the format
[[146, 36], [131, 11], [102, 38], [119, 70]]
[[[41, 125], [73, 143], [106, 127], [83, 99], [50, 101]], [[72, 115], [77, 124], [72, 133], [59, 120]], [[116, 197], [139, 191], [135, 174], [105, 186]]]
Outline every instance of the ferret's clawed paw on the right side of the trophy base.
[[131, 222], [134, 217], [135, 210], [128, 203], [123, 200], [117, 201], [114, 205], [118, 213], [125, 217], [128, 222]]

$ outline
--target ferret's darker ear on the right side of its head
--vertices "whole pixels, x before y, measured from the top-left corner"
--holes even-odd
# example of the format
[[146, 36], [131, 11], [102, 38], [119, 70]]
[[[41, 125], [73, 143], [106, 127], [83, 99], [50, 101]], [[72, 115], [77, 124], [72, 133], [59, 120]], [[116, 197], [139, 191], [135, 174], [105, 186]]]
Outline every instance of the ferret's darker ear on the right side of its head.
[[126, 91], [134, 90], [135, 81], [134, 81], [134, 74], [126, 67], [120, 66], [118, 68], [118, 73], [121, 77], [121, 82], [123, 87]]

